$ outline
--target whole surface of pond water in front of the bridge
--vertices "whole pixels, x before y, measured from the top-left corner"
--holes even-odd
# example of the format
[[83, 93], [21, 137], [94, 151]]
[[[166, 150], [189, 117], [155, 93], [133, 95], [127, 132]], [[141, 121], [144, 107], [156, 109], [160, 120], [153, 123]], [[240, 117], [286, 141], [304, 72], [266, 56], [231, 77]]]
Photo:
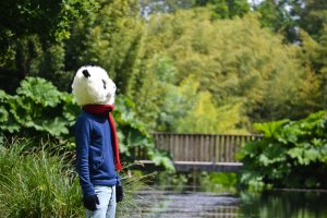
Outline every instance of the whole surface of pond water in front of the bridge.
[[[147, 189], [138, 193], [137, 217], [327, 218], [327, 192], [271, 191], [262, 194]], [[136, 216], [135, 216], [136, 217]]]

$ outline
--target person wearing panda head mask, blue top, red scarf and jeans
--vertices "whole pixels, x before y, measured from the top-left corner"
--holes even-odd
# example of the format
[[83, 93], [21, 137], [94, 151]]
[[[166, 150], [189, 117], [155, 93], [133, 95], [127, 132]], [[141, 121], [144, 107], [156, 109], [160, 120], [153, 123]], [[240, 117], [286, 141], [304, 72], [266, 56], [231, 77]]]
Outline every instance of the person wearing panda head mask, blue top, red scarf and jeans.
[[[82, 74], [88, 78], [93, 76], [93, 73], [98, 73], [99, 70], [102, 69], [85, 66]], [[72, 85], [75, 97], [78, 96], [76, 92], [81, 92], [76, 88], [78, 85], [77, 74]], [[82, 77], [80, 76], [80, 78]], [[95, 84], [92, 83], [92, 86]], [[84, 92], [89, 93], [85, 89]], [[85, 93], [84, 95], [86, 95]], [[97, 100], [90, 102], [82, 102], [82, 112], [74, 126], [76, 171], [82, 186], [83, 204], [86, 208], [87, 218], [114, 218], [117, 202], [122, 201], [123, 193], [120, 175], [117, 172], [117, 170], [121, 171], [122, 167], [117, 132], [111, 117], [113, 105]]]

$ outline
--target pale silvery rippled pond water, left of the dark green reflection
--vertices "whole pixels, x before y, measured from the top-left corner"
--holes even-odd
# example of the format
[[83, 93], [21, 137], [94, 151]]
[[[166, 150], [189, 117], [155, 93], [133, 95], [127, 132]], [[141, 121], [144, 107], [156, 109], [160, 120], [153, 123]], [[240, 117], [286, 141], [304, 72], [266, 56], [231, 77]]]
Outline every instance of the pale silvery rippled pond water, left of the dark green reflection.
[[230, 195], [191, 191], [143, 191], [140, 194], [142, 217], [237, 217], [239, 214], [239, 198]]

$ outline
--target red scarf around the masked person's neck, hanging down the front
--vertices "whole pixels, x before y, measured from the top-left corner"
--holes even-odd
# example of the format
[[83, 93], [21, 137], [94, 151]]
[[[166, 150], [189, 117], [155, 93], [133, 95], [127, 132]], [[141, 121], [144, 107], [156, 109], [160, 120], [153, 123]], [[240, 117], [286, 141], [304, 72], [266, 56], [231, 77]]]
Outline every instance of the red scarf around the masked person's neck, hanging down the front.
[[85, 105], [83, 106], [83, 110], [96, 116], [108, 113], [108, 121], [111, 130], [111, 145], [112, 145], [113, 156], [114, 156], [114, 167], [117, 170], [122, 171], [120, 157], [119, 157], [118, 137], [117, 137], [113, 118], [111, 116], [111, 111], [113, 110], [113, 105]]

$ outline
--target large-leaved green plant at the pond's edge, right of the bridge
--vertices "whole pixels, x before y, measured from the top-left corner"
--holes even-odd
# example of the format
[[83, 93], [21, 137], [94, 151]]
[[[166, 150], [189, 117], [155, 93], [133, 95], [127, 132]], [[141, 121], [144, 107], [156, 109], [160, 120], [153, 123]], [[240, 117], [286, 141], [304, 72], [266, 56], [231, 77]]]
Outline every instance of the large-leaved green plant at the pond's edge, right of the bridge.
[[320, 111], [299, 121], [256, 124], [264, 136], [242, 148], [241, 183], [254, 190], [326, 187], [326, 118]]

